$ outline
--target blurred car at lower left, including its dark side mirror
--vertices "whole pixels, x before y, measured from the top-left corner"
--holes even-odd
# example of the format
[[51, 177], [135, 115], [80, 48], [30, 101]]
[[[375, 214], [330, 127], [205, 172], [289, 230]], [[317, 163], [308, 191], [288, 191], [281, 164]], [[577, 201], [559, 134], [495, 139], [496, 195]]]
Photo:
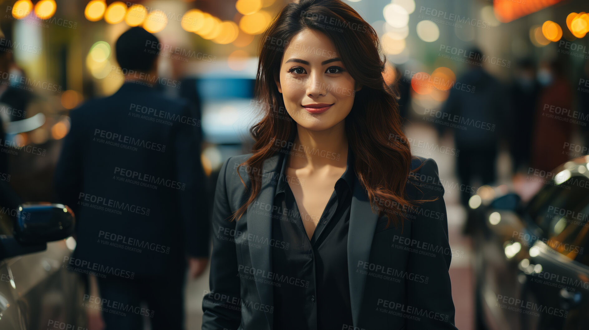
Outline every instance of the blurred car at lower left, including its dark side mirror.
[[71, 209], [28, 203], [3, 212], [0, 329], [85, 329], [86, 313], [80, 306], [84, 281], [63, 266], [75, 244], [68, 238], [74, 231]]

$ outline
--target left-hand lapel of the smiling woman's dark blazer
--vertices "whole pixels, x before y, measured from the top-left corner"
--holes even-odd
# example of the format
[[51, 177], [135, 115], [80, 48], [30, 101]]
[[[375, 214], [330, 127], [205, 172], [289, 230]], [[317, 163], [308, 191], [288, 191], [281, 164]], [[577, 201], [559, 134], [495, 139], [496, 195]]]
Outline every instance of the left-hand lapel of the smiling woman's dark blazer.
[[[266, 241], [266, 239], [272, 238], [272, 212], [250, 212], [252, 205], [262, 202], [272, 205], [274, 201], [274, 194], [276, 192], [277, 184], [277, 172], [276, 166], [279, 159], [279, 155], [274, 155], [266, 161], [264, 161], [262, 169], [262, 187], [260, 193], [256, 197], [256, 200], [247, 206], [247, 231], [253, 235], [255, 239]], [[250, 248], [250, 258], [252, 260], [252, 268], [261, 271], [262, 274], [268, 274], [272, 271], [272, 255], [270, 255], [270, 245], [261, 244], [262, 248]], [[259, 275], [254, 275], [254, 278], [258, 279]], [[273, 286], [264, 284], [263, 278], [256, 281], [256, 288], [260, 295], [260, 302], [267, 306], [273, 306], [274, 295]], [[264, 312], [268, 320], [269, 329], [273, 329], [273, 314], [270, 312]]]

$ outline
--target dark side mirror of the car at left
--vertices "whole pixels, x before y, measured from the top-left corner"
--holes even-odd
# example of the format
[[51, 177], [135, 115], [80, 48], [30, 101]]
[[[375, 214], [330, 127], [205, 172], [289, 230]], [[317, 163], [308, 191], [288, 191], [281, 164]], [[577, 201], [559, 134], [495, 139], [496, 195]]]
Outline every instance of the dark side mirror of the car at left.
[[22, 244], [59, 241], [74, 234], [74, 212], [66, 205], [49, 202], [18, 206], [14, 238]]

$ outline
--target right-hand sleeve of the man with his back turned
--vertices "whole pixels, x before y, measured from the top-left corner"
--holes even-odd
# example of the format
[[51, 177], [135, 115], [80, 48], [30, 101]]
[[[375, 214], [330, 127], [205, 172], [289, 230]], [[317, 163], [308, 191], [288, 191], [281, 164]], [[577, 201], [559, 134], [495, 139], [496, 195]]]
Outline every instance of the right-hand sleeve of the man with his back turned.
[[[191, 116], [190, 106], [183, 108], [183, 116]], [[184, 226], [186, 255], [208, 257], [210, 249], [210, 209], [206, 176], [200, 161], [200, 137], [191, 124], [178, 125], [174, 136], [176, 172], [180, 190], [180, 214]]]

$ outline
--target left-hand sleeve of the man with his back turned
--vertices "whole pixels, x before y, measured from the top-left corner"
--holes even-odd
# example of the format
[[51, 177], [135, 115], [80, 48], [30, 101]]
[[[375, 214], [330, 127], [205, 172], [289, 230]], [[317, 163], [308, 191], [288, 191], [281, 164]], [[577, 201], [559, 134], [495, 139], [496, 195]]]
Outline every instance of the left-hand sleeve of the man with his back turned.
[[82, 192], [82, 128], [80, 109], [70, 112], [70, 132], [61, 145], [61, 153], [53, 177], [56, 201], [78, 214], [77, 198]]

